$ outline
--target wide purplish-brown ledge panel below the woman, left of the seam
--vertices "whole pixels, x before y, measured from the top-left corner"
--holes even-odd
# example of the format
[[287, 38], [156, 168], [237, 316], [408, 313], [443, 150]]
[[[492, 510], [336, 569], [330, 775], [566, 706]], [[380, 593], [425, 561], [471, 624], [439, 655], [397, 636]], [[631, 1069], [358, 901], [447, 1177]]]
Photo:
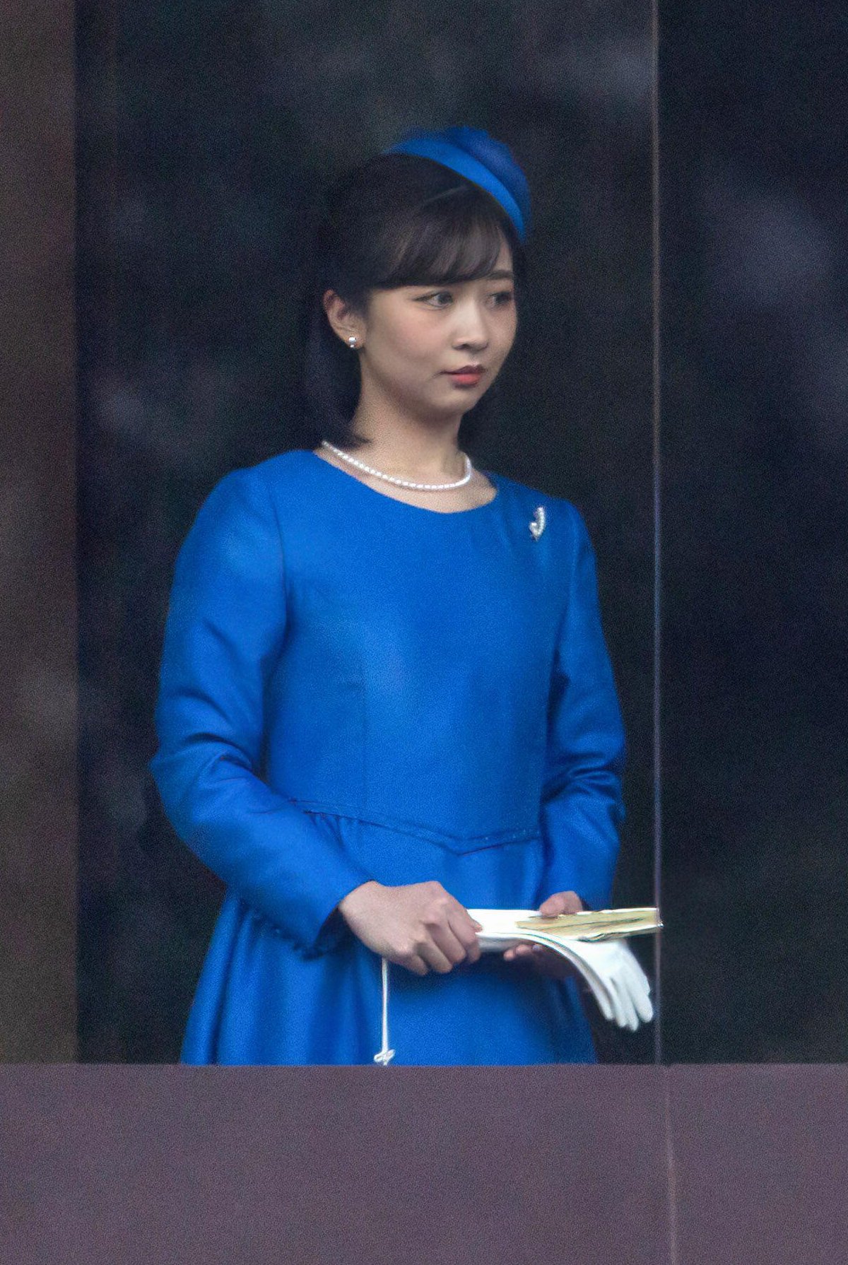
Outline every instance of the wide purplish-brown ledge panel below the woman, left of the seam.
[[661, 1092], [652, 1068], [0, 1069], [1, 1255], [661, 1265]]

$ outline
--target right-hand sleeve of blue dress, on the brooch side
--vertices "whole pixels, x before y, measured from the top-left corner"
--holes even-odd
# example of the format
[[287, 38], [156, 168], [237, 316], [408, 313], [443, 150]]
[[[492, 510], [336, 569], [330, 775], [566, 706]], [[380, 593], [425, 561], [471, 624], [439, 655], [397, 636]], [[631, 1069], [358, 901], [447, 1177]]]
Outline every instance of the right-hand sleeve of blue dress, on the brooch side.
[[572, 568], [548, 712], [540, 896], [573, 891], [597, 910], [610, 901], [624, 816], [624, 727], [601, 630], [594, 550], [582, 517], [568, 509]]

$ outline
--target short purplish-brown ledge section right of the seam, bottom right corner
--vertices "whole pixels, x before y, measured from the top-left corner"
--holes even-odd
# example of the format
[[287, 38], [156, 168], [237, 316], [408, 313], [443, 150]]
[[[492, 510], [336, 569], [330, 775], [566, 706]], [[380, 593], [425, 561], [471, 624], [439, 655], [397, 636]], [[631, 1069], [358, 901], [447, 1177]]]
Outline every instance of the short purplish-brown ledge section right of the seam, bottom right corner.
[[848, 1240], [848, 1068], [670, 1069], [681, 1265], [834, 1265]]

